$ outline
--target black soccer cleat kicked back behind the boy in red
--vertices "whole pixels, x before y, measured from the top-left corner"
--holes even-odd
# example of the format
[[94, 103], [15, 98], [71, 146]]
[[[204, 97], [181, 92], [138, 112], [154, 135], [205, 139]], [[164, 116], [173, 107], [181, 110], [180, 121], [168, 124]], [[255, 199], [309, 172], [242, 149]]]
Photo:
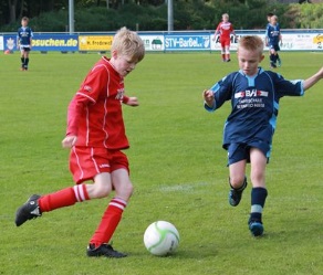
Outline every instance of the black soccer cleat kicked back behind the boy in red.
[[20, 226], [28, 220], [32, 220], [42, 215], [41, 210], [38, 204], [40, 195], [33, 194], [28, 201], [20, 207], [15, 212], [15, 225]]

